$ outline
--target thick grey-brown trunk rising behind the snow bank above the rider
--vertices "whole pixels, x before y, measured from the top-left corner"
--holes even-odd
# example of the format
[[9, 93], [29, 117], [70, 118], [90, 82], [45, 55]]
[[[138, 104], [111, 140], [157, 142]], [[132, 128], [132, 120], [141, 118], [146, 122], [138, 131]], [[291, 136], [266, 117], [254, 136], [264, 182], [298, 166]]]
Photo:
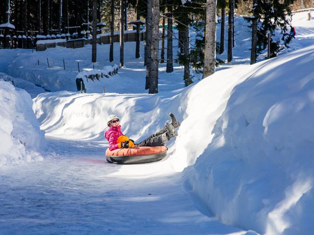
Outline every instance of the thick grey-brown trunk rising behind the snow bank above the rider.
[[152, 0], [152, 45], [149, 94], [158, 93], [159, 0]]

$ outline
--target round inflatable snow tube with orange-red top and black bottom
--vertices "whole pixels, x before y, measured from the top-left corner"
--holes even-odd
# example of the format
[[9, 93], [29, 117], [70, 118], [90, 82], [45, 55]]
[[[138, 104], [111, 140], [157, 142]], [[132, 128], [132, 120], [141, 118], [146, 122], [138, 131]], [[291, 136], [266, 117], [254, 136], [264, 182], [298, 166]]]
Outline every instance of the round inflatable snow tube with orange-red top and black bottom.
[[118, 148], [113, 151], [107, 148], [105, 154], [109, 163], [140, 164], [157, 162], [163, 159], [166, 156], [167, 150], [165, 146]]

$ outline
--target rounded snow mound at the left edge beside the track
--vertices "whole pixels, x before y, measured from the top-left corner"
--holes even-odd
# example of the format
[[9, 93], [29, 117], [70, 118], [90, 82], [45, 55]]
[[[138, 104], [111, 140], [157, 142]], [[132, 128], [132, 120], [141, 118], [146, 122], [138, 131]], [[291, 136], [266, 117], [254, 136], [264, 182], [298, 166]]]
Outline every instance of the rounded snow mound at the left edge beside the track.
[[29, 94], [0, 79], [0, 167], [43, 159], [44, 132], [31, 106]]

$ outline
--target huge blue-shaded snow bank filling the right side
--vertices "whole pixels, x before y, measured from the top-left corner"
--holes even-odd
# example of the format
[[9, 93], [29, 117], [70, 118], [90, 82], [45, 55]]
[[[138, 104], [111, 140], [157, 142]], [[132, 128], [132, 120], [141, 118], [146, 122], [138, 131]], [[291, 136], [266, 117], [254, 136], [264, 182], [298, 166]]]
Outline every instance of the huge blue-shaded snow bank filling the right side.
[[[205, 130], [196, 138], [193, 130], [186, 131], [192, 150], [185, 154], [193, 154], [199, 143], [209, 144], [186, 189], [224, 223], [267, 235], [312, 233], [313, 63], [314, 46], [258, 63], [233, 88], [212, 131], [208, 122], [215, 118], [205, 108], [195, 108], [193, 122], [182, 123], [182, 128], [197, 123]], [[213, 106], [211, 92], [217, 91], [205, 93], [204, 87], [216, 87], [215, 75], [195, 86], [200, 97], [190, 96], [190, 106], [202, 99]], [[206, 134], [214, 135], [212, 141]]]

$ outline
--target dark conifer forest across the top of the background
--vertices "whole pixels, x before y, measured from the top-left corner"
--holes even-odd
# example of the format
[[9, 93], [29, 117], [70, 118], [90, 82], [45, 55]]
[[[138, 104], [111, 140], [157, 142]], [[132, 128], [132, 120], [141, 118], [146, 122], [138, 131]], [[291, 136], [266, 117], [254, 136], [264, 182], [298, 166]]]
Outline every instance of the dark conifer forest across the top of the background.
[[[277, 55], [280, 44], [288, 47], [292, 39], [292, 10], [312, 6], [313, 1], [310, 0], [1, 0], [0, 23], [9, 22], [15, 29], [2, 27], [0, 40], [4, 47], [12, 47], [9, 39], [18, 35], [29, 38], [26, 45], [33, 45], [33, 38], [41, 38], [38, 35], [46, 39], [61, 38], [61, 35], [64, 38], [65, 34], [67, 39], [91, 37], [92, 62], [96, 62], [96, 35], [110, 32], [109, 60], [112, 61], [113, 33], [119, 30], [120, 67], [123, 67], [124, 31], [136, 29], [135, 57], [139, 58], [139, 30], [145, 28], [145, 88], [149, 93], [157, 93], [158, 63], [166, 63], [167, 72], [173, 71], [174, 60], [183, 65], [183, 79], [188, 86], [192, 83], [191, 68], [203, 73], [205, 78], [214, 73], [216, 66], [225, 63], [216, 54], [227, 51], [227, 63], [231, 62], [232, 48], [235, 46], [236, 15], [243, 16], [251, 25], [251, 64], [254, 64], [258, 54], [267, 47], [268, 58]], [[216, 15], [220, 17], [218, 24], [221, 35], [216, 35]], [[225, 30], [226, 20], [228, 28]], [[140, 24], [130, 24], [134, 21]], [[178, 36], [174, 35], [173, 29], [178, 30]], [[273, 36], [278, 29], [281, 30], [282, 38], [275, 41]], [[197, 33], [193, 42], [190, 30]], [[224, 45], [225, 38], [228, 38], [227, 45]], [[173, 40], [179, 41], [179, 52], [175, 56]]]

